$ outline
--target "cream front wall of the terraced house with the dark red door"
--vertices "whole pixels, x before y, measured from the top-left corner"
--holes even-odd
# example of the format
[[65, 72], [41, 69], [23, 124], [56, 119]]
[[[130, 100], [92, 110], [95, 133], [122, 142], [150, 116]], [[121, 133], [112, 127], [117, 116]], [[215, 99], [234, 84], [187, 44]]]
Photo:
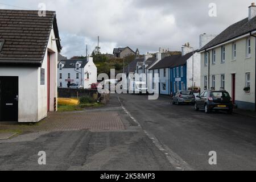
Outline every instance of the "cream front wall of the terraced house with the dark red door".
[[[246, 39], [239, 39], [237, 44], [237, 57], [232, 60], [232, 44], [226, 44], [226, 60], [221, 63], [221, 47], [216, 48], [216, 64], [212, 64], [210, 50], [210, 87], [212, 75], [216, 76], [216, 89], [221, 87], [221, 75], [225, 74], [225, 89], [232, 94], [232, 73], [236, 73], [236, 100], [254, 103], [255, 101], [255, 38], [251, 37], [251, 56], [246, 58]], [[245, 88], [245, 73], [251, 74], [251, 93], [243, 91]], [[204, 52], [201, 53], [201, 89], [204, 88], [204, 76], [208, 76], [208, 67], [204, 65]]]

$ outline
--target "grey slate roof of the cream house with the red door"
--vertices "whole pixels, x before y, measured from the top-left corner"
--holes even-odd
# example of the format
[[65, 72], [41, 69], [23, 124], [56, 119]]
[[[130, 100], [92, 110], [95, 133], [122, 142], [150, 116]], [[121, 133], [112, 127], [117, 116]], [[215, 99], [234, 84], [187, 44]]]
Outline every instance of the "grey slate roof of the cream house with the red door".
[[204, 49], [208, 49], [217, 46], [218, 44], [225, 43], [239, 36], [248, 34], [254, 30], [256, 30], [256, 16], [250, 20], [248, 20], [248, 18], [245, 18], [226, 28], [226, 30], [222, 31], [218, 36], [216, 36], [216, 38], [206, 44], [199, 51], [204, 51]]

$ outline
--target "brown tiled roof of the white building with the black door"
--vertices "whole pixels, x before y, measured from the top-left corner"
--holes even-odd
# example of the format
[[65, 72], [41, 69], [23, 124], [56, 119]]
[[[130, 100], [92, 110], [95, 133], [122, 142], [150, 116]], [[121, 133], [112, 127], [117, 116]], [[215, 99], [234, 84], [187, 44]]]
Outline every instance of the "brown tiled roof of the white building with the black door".
[[55, 11], [45, 17], [32, 10], [0, 10], [0, 39], [5, 40], [0, 52], [0, 65], [30, 65], [40, 67], [47, 51], [51, 28], [55, 32], [57, 49], [60, 38]]

